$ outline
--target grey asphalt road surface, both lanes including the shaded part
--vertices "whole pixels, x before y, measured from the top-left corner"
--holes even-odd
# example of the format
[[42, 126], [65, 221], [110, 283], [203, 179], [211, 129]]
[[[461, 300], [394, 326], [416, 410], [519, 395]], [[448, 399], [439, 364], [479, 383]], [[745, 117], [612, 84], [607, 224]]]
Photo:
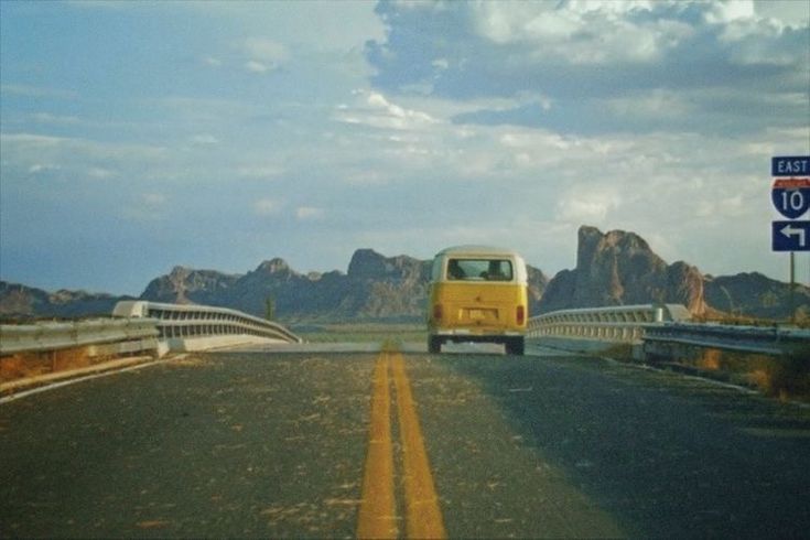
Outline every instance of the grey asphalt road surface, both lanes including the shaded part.
[[399, 537], [432, 504], [451, 538], [810, 530], [806, 407], [551, 350], [401, 350], [193, 355], [2, 403], [0, 537], [354, 537], [387, 485]]

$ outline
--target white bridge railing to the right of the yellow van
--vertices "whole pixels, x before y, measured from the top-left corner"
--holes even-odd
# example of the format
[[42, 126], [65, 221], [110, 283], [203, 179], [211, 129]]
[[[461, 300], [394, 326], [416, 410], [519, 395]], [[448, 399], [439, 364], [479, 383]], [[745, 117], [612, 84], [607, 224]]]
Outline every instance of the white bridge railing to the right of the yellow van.
[[641, 304], [561, 310], [531, 317], [528, 337], [573, 337], [603, 342], [640, 343], [645, 330], [667, 321], [683, 321], [680, 304]]

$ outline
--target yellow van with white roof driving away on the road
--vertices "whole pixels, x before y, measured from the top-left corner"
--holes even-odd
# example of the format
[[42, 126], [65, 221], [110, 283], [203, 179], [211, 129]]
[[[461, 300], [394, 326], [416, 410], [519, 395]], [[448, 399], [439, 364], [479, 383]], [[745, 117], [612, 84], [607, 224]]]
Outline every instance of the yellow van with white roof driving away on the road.
[[458, 246], [433, 259], [428, 349], [445, 342], [503, 343], [522, 355], [529, 302], [526, 262], [512, 250]]

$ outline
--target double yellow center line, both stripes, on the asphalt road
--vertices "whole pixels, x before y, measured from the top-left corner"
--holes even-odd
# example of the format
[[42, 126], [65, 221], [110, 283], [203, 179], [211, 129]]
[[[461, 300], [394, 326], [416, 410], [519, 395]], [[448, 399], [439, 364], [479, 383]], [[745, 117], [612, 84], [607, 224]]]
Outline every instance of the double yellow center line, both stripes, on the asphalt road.
[[388, 348], [380, 353], [374, 368], [371, 424], [357, 537], [397, 538], [399, 533], [393, 484], [390, 366], [397, 391], [397, 419], [402, 446], [406, 533], [408, 538], [446, 538], [404, 359], [401, 353]]

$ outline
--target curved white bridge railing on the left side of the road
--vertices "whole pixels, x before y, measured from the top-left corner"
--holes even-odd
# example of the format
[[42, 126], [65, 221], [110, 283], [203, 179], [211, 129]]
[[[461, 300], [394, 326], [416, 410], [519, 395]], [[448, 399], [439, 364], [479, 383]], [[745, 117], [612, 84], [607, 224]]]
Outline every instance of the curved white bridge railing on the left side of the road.
[[288, 343], [301, 343], [301, 338], [272, 321], [255, 317], [227, 307], [196, 304], [165, 304], [142, 300], [118, 302], [112, 310], [116, 317], [148, 317], [154, 320], [159, 338], [169, 349], [183, 350], [190, 339], [226, 336], [255, 336]]

